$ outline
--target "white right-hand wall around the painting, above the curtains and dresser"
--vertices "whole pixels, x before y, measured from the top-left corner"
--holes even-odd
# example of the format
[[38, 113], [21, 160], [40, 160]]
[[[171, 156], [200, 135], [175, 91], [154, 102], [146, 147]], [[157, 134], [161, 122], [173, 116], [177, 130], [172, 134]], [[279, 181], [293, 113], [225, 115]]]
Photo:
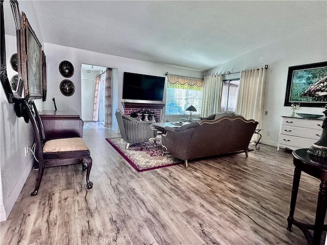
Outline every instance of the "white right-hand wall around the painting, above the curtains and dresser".
[[[281, 116], [291, 116], [284, 107], [288, 67], [327, 61], [327, 26], [312, 26], [303, 33], [258, 48], [235, 60], [206, 71], [206, 75], [225, 74], [268, 64], [265, 83], [262, 142], [277, 145]], [[303, 107], [302, 113], [322, 114], [323, 108]], [[270, 135], [267, 135], [270, 132]]]

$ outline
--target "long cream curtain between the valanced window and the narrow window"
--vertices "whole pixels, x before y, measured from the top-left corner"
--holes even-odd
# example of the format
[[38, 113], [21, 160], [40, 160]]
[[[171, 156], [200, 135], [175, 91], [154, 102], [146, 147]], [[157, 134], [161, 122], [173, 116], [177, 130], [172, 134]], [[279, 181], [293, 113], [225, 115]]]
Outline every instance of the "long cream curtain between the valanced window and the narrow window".
[[222, 88], [223, 78], [220, 74], [204, 77], [201, 117], [221, 112]]

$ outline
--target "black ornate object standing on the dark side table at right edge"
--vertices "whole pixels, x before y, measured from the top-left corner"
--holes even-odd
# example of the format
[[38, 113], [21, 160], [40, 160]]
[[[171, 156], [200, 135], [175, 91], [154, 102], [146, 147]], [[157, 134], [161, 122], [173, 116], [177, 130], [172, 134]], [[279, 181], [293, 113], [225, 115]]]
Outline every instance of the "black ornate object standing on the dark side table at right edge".
[[327, 105], [325, 106], [323, 114], [325, 114], [325, 118], [322, 122], [322, 134], [320, 139], [310, 146], [309, 150], [307, 151], [309, 154], [314, 155], [316, 157], [323, 157], [327, 158]]

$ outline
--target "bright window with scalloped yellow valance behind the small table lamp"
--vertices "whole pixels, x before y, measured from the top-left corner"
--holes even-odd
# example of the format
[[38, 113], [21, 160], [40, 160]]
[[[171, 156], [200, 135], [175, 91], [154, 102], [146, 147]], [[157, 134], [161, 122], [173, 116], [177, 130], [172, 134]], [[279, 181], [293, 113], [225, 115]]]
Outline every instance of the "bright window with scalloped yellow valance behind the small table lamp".
[[193, 105], [200, 115], [202, 107], [203, 79], [190, 78], [178, 75], [168, 75], [166, 92], [167, 115], [189, 115], [186, 108]]

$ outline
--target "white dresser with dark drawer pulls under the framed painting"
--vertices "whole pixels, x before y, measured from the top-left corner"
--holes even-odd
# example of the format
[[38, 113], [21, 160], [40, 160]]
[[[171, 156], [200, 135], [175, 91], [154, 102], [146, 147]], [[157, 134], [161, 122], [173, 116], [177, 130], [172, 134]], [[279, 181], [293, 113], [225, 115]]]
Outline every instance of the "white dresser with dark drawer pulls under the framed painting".
[[322, 119], [282, 116], [277, 151], [280, 147], [291, 150], [309, 148], [321, 136], [322, 121]]

